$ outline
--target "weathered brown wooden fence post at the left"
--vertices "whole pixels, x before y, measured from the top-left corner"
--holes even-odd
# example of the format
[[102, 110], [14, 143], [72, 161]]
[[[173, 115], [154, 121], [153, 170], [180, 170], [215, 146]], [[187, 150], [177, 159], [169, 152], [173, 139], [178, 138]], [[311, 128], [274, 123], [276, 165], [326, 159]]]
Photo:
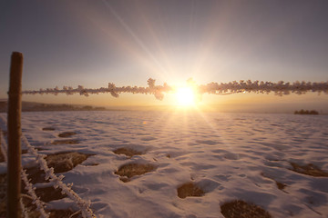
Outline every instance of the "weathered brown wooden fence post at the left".
[[21, 218], [21, 111], [23, 54], [13, 52], [8, 92], [7, 217]]

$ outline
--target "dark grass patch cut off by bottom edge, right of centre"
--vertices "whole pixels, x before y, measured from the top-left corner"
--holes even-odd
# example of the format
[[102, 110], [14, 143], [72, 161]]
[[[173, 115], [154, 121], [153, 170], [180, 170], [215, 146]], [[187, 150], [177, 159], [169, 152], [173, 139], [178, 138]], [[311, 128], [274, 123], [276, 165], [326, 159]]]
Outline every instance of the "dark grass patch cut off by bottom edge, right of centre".
[[235, 200], [220, 206], [225, 218], [271, 218], [272, 215], [258, 205]]

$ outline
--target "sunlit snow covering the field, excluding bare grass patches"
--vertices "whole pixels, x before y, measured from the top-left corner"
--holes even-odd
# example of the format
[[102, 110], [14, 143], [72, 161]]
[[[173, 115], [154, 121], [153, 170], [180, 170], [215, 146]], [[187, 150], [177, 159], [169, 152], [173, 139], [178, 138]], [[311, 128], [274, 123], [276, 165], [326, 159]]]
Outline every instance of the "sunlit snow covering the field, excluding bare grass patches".
[[[273, 217], [328, 217], [328, 177], [296, 173], [291, 165], [313, 163], [328, 172], [328, 116], [39, 112], [23, 113], [22, 129], [30, 144], [44, 149], [40, 154], [96, 154], [63, 174], [98, 217], [223, 217], [220, 205], [235, 199]], [[67, 131], [77, 133], [70, 138], [79, 144], [51, 144]], [[144, 154], [114, 154], [120, 147]], [[23, 154], [24, 164], [31, 161]], [[123, 183], [115, 172], [125, 163], [157, 168]], [[205, 195], [179, 198], [177, 187], [187, 182]], [[286, 186], [279, 189], [276, 182]], [[73, 205], [67, 198], [48, 204]]]

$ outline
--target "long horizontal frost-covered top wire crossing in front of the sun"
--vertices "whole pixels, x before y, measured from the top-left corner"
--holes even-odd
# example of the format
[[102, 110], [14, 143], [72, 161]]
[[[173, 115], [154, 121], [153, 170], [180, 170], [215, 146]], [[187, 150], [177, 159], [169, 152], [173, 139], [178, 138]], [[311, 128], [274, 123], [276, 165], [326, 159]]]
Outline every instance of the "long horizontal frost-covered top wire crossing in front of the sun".
[[[114, 97], [118, 97], [121, 93], [129, 94], [154, 94], [159, 100], [162, 100], [164, 93], [174, 92], [176, 88], [169, 86], [168, 84], [155, 85], [155, 80], [149, 78], [148, 87], [140, 86], [122, 86], [117, 87], [115, 84], [109, 83], [108, 87], [101, 87], [96, 89], [85, 88], [82, 85], [78, 85], [77, 88], [70, 86], [64, 86], [63, 89], [46, 88], [40, 90], [23, 91], [22, 94], [81, 94], [88, 96], [89, 94], [101, 94], [110, 93]], [[263, 81], [232, 81], [230, 83], [210, 83], [210, 84], [195, 84], [192, 79], [188, 82], [193, 83], [193, 88], [198, 94], [237, 94], [237, 93], [257, 93], [257, 94], [269, 94], [273, 92], [277, 95], [284, 94], [306, 94], [308, 92], [324, 93], [328, 94], [328, 82], [312, 83], [312, 82], [299, 82], [285, 83], [280, 81], [278, 83], [263, 82]]]

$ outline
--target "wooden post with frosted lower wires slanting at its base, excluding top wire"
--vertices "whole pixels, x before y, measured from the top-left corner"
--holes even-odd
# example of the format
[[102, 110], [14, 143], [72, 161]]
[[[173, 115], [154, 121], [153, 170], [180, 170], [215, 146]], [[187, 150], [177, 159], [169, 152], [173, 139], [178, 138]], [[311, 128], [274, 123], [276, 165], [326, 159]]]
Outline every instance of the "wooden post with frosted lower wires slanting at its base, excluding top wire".
[[[78, 196], [72, 190], [73, 183], [66, 184], [62, 180], [64, 175], [56, 176], [54, 168], [48, 167], [46, 164], [46, 155], [38, 154], [36, 148], [29, 144], [28, 140], [22, 134], [21, 130], [21, 111], [22, 111], [22, 73], [23, 73], [23, 54], [13, 52], [11, 56], [10, 64], [10, 80], [9, 80], [9, 92], [8, 92], [8, 111], [7, 111], [7, 123], [5, 118], [0, 116], [1, 122], [6, 127], [6, 139], [0, 129], [0, 149], [4, 154], [5, 163], [7, 165], [7, 179], [6, 179], [6, 209], [7, 217], [20, 218], [21, 216], [28, 217], [28, 211], [22, 201], [21, 194], [21, 180], [26, 183], [27, 195], [26, 197], [32, 199], [32, 203], [36, 204], [36, 210], [39, 211], [41, 218], [49, 217], [49, 213], [46, 213], [45, 205], [35, 192], [35, 187], [30, 180], [28, 175], [23, 168], [21, 161], [21, 144], [26, 146], [28, 153], [36, 157], [36, 163], [39, 164], [39, 168], [46, 173], [46, 180], [54, 184], [55, 188], [60, 188], [62, 193], [66, 193], [80, 209], [78, 212], [82, 213], [84, 218], [94, 218], [96, 215], [90, 208], [91, 202], [85, 201]], [[78, 213], [77, 212], [77, 213]], [[77, 214], [74, 213], [74, 214]]]

